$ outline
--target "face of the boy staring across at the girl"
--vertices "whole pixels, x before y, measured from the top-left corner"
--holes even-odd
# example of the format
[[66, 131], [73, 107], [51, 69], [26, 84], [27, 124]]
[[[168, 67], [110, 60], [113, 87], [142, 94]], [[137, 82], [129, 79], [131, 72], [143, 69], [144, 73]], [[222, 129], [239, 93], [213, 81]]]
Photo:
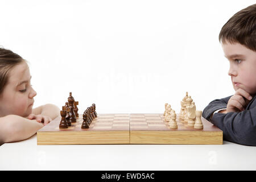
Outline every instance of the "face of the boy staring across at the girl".
[[253, 96], [256, 93], [256, 52], [240, 43], [222, 43], [229, 60], [229, 72], [235, 90], [241, 88]]

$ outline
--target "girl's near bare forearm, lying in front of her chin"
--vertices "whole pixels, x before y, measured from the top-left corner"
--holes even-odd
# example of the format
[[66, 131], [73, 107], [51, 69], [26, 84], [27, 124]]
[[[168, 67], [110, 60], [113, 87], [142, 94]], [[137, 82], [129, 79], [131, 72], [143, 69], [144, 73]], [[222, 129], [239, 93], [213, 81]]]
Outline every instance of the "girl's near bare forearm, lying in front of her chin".
[[0, 143], [7, 143], [30, 138], [43, 124], [18, 115], [6, 115], [0, 118], [0, 126]]

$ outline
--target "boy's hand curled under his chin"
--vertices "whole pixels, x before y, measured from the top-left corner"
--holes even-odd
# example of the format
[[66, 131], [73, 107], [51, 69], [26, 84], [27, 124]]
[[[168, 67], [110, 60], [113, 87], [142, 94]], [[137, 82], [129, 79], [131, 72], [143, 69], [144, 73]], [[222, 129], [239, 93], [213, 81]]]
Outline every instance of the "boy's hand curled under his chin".
[[226, 112], [240, 112], [245, 110], [253, 97], [250, 96], [245, 90], [239, 88], [236, 90], [234, 96], [230, 97], [228, 105], [226, 106]]

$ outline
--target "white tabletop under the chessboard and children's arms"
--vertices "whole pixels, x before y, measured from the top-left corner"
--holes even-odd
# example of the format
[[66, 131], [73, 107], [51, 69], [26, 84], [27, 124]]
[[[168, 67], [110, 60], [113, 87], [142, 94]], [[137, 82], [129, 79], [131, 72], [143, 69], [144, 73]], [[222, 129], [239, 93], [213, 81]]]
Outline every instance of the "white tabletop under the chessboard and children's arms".
[[222, 145], [40, 145], [36, 134], [0, 146], [0, 170], [255, 170], [256, 147]]

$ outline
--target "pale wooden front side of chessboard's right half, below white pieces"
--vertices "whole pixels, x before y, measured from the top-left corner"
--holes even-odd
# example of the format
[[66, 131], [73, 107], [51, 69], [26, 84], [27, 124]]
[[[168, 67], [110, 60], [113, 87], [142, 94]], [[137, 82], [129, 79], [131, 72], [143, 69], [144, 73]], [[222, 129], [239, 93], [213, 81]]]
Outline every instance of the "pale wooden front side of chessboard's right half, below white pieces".
[[223, 144], [222, 131], [130, 131], [130, 144]]

